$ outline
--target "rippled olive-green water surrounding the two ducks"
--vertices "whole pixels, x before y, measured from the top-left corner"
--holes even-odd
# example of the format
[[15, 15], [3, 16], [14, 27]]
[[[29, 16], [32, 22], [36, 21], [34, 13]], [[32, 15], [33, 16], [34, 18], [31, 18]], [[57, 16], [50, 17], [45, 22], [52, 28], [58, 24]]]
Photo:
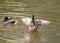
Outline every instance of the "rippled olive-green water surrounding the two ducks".
[[[29, 33], [20, 18], [31, 15], [51, 24]], [[4, 16], [13, 17], [18, 23], [7, 26], [0, 23], [0, 43], [60, 43], [60, 0], [0, 0], [0, 21]]]

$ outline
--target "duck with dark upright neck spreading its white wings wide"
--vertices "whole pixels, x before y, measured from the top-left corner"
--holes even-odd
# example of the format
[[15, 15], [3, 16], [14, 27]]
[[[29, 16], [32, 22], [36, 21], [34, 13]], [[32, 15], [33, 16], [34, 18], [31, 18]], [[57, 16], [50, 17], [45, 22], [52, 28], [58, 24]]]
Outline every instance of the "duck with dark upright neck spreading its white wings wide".
[[47, 25], [50, 24], [50, 21], [47, 21], [47, 20], [43, 20], [43, 19], [35, 20], [34, 15], [32, 15], [31, 18], [23, 17], [23, 18], [21, 18], [21, 20], [22, 20], [23, 24], [29, 26], [29, 30], [32, 31], [32, 32], [37, 31], [39, 27], [47, 26]]

